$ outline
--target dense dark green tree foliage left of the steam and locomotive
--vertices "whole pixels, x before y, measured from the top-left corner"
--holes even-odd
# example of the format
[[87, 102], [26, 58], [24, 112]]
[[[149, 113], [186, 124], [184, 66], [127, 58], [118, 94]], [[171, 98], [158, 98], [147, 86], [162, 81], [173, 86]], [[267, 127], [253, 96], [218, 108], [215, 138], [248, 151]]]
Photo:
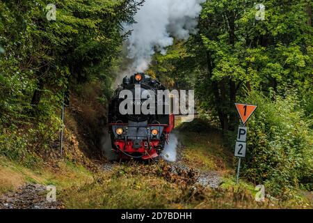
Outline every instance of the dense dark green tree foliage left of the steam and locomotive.
[[[133, 0], [0, 1], [0, 153], [47, 147], [58, 137], [68, 91], [97, 79], [107, 93], [111, 68], [133, 22]], [[52, 14], [51, 14], [52, 13]], [[49, 19], [49, 20], [48, 20]]]

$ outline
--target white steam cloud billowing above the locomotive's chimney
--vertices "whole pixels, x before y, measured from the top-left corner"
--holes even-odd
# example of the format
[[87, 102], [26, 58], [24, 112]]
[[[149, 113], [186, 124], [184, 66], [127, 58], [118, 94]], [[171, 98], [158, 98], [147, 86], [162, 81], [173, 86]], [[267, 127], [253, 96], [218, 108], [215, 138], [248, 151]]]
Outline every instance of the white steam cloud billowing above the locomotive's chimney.
[[[138, 0], [139, 1], [139, 0]], [[138, 10], [135, 24], [125, 24], [131, 31], [127, 41], [128, 58], [133, 63], [129, 70], [144, 72], [155, 52], [166, 54], [173, 38], [187, 40], [197, 33], [197, 17], [205, 0], [146, 0]]]

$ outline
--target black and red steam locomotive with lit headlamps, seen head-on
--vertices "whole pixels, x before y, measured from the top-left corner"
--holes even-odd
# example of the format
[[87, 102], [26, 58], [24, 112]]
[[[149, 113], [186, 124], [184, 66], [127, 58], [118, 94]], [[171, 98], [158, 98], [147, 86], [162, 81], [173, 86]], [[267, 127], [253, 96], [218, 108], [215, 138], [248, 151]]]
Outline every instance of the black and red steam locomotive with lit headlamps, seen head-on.
[[[109, 102], [109, 134], [113, 150], [122, 159], [158, 157], [175, 125], [172, 104], [172, 97], [157, 79], [145, 73], [126, 76]], [[138, 111], [138, 106], [144, 105], [150, 112]]]

